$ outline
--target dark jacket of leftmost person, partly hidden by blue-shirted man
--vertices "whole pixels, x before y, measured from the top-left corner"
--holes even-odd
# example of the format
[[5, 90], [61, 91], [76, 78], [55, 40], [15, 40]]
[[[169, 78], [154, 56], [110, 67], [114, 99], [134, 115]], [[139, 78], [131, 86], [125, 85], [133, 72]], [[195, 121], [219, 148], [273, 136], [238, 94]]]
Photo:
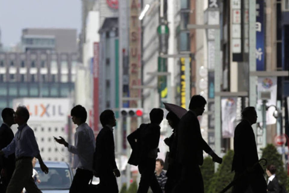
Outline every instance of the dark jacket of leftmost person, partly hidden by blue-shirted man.
[[[2, 124], [0, 127], [0, 150], [6, 147], [14, 138], [13, 131], [7, 125]], [[12, 153], [5, 158], [0, 156], [0, 171], [2, 168], [13, 169], [15, 168], [15, 154]]]

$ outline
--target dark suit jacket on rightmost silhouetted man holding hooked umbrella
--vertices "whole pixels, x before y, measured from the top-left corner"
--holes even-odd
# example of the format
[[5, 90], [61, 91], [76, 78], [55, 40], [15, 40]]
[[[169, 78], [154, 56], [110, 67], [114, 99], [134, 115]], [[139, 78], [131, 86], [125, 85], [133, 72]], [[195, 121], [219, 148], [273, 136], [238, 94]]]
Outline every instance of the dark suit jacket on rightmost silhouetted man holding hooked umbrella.
[[[247, 167], [252, 167], [258, 161], [259, 158], [253, 128], [247, 120], [242, 120], [235, 128], [234, 133], [232, 171], [242, 172], [247, 169]], [[261, 166], [259, 164], [256, 168], [261, 172]]]

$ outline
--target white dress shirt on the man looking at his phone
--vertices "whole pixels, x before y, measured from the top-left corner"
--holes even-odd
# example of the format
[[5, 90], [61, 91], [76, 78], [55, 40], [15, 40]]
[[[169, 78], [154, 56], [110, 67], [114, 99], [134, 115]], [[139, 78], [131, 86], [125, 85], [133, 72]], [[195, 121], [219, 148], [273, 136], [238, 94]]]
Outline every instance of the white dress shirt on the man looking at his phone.
[[68, 151], [74, 153], [73, 168], [92, 170], [95, 138], [92, 129], [82, 123], [76, 128], [74, 146], [68, 145]]

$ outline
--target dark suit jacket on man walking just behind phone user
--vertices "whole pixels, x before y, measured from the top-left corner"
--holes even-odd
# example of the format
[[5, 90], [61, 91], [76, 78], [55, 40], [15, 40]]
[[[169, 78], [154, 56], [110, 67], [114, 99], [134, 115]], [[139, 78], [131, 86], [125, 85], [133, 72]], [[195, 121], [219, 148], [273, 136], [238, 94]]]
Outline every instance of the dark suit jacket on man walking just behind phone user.
[[99, 174], [117, 169], [114, 154], [113, 132], [109, 127], [102, 128], [95, 142], [94, 170]]

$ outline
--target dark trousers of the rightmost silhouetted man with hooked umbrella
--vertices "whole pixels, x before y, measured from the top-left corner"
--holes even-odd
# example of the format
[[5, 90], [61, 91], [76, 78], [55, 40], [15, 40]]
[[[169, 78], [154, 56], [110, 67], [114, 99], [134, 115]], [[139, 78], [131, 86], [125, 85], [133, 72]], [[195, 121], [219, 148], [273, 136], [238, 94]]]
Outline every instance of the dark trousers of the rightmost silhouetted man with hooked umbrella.
[[262, 173], [252, 172], [242, 175], [243, 172], [235, 172], [234, 179], [239, 180], [235, 183], [232, 193], [266, 193], [267, 184]]

